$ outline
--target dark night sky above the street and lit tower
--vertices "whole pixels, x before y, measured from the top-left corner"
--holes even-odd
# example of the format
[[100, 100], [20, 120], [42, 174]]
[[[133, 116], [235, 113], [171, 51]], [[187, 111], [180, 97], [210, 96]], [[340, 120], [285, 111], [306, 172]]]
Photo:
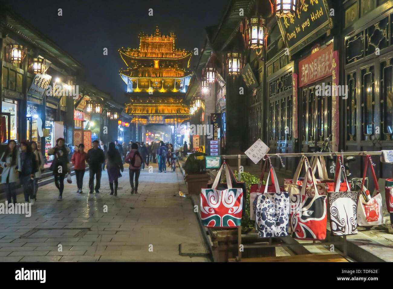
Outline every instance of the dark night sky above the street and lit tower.
[[[119, 70], [126, 65], [118, 49], [138, 48], [139, 33], [176, 35], [175, 48], [203, 48], [205, 28], [216, 25], [229, 0], [111, 0], [6, 2], [22, 18], [70, 53], [85, 68], [86, 80], [116, 97], [126, 85]], [[62, 16], [57, 9], [62, 8]], [[149, 8], [153, 16], [148, 16]], [[108, 55], [103, 55], [103, 48]], [[194, 69], [198, 56], [193, 56]]]

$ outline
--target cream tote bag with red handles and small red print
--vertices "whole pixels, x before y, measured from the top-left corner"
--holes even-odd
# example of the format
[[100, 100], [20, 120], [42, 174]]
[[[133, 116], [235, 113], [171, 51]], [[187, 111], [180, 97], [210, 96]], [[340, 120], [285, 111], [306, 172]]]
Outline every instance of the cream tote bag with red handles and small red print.
[[359, 226], [376, 226], [384, 223], [384, 216], [382, 213], [382, 196], [379, 191], [378, 180], [376, 179], [371, 156], [365, 156], [365, 164], [363, 171], [362, 191], [366, 191], [364, 181], [367, 173], [367, 166], [370, 163], [371, 173], [373, 175], [376, 194], [369, 201], [366, 201], [363, 195], [358, 198], [358, 225]]

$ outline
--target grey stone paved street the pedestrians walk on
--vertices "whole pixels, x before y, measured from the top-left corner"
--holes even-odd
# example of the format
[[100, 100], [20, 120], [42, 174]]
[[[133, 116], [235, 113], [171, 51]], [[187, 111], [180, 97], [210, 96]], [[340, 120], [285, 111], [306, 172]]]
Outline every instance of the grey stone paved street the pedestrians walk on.
[[180, 256], [179, 244], [203, 237], [191, 200], [173, 196], [185, 188], [179, 168], [158, 173], [152, 165], [153, 173], [141, 172], [138, 195], [130, 193], [128, 168], [117, 197], [109, 195], [107, 171], [99, 194], [88, 194], [88, 172], [83, 194], [75, 193], [75, 176], [65, 181], [62, 201], [53, 183], [40, 187], [31, 217], [0, 215], [0, 261], [209, 261]]

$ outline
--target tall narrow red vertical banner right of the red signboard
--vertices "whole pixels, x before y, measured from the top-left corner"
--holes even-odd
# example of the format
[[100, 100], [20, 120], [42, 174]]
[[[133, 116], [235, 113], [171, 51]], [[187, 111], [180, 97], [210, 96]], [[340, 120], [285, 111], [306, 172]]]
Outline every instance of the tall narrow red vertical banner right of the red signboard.
[[[333, 52], [333, 62], [332, 62], [332, 86], [338, 86], [338, 51]], [[332, 144], [333, 151], [338, 151], [338, 137], [339, 137], [339, 116], [338, 116], [338, 102], [340, 96], [336, 95], [338, 90], [332, 89]]]

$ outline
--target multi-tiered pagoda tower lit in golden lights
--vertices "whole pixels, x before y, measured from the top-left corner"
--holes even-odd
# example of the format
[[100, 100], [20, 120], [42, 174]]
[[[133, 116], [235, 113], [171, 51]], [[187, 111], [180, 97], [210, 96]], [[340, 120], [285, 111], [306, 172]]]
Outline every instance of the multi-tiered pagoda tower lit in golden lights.
[[[120, 76], [127, 85], [130, 103], [125, 111], [133, 123], [162, 123], [178, 127], [189, 119], [189, 109], [182, 104], [192, 72], [191, 52], [175, 49], [175, 35], [140, 33], [138, 49], [119, 49], [127, 68]], [[138, 131], [138, 130], [137, 130]]]

